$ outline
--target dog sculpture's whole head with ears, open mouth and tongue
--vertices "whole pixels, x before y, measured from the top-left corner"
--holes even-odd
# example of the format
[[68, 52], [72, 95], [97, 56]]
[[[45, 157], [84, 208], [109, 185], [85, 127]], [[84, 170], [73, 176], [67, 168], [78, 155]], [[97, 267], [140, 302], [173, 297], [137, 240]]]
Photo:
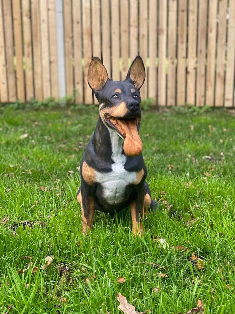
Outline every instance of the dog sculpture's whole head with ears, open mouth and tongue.
[[141, 120], [139, 89], [144, 84], [145, 69], [141, 57], [132, 62], [124, 81], [108, 78], [101, 60], [94, 57], [88, 69], [88, 84], [99, 101], [99, 114], [104, 125], [124, 139], [127, 156], [143, 150], [138, 130]]

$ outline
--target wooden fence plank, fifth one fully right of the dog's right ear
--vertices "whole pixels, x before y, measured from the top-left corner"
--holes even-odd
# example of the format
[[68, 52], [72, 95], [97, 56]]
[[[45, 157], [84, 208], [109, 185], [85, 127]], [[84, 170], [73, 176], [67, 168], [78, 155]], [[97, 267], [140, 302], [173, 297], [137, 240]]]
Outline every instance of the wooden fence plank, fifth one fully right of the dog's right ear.
[[187, 66], [187, 99], [189, 105], [195, 105], [196, 79], [196, 44], [197, 44], [197, 0], [189, 0], [188, 14], [188, 66]]

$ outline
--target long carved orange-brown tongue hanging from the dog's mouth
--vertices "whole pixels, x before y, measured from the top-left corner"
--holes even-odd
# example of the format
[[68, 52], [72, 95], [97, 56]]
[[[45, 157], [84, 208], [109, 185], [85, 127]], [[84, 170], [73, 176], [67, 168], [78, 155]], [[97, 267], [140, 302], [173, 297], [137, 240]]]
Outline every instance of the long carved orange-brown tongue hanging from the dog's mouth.
[[124, 153], [127, 156], [138, 156], [142, 153], [143, 144], [137, 130], [136, 119], [118, 119], [121, 124], [125, 140], [123, 144]]

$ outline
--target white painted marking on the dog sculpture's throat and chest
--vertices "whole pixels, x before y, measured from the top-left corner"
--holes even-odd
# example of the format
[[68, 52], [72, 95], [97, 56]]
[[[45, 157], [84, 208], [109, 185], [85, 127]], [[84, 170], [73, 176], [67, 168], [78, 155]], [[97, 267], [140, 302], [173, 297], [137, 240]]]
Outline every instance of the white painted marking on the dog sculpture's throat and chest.
[[109, 130], [112, 145], [112, 171], [105, 173], [96, 171], [97, 182], [103, 187], [103, 197], [112, 205], [125, 200], [125, 187], [136, 181], [137, 172], [126, 171], [124, 164], [127, 157], [122, 154], [123, 139], [118, 134]]

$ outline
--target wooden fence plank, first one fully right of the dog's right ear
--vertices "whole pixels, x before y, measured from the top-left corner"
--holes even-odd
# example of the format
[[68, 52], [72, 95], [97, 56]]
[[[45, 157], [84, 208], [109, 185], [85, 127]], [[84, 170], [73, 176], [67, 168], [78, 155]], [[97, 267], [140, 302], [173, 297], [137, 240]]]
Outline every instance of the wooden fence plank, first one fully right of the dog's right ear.
[[155, 0], [149, 1], [149, 84], [148, 95], [157, 100], [157, 3]]

